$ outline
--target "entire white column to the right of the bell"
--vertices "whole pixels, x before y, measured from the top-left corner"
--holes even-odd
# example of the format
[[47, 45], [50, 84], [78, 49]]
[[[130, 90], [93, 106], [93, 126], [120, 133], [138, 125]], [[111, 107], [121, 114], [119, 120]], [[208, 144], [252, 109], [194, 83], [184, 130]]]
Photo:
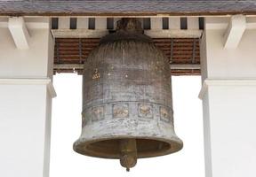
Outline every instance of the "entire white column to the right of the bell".
[[256, 29], [247, 27], [228, 50], [228, 23], [230, 18], [206, 18], [201, 42], [206, 177], [254, 177]]

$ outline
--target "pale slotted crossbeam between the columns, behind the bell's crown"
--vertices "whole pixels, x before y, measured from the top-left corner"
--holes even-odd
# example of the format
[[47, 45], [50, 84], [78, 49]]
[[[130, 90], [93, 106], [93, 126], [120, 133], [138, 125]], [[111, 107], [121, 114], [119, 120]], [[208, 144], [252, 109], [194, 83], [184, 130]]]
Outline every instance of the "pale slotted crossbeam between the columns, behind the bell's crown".
[[[114, 18], [114, 29], [116, 21]], [[202, 30], [199, 30], [198, 17], [188, 18], [188, 29], [180, 29], [180, 17], [169, 18], [169, 29], [163, 29], [163, 18], [150, 18], [150, 29], [145, 29], [145, 35], [153, 38], [199, 38]], [[88, 30], [88, 19], [78, 18], [77, 28], [69, 29], [68, 18], [59, 18], [59, 28], [52, 29], [52, 35], [56, 38], [100, 38], [108, 35], [107, 18], [95, 18], [95, 29]]]

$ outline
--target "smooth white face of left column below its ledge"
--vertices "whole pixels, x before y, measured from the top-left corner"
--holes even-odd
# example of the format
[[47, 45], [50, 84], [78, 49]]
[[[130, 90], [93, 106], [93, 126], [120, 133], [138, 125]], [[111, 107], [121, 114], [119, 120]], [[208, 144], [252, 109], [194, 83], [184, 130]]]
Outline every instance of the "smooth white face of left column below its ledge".
[[43, 176], [47, 89], [0, 85], [0, 176]]

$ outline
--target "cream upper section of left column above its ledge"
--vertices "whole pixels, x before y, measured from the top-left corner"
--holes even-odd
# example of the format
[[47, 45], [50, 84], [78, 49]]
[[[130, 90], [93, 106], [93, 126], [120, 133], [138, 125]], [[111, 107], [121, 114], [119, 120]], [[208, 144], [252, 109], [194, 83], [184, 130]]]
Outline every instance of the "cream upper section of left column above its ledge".
[[28, 28], [28, 32], [29, 49], [17, 50], [9, 29], [0, 27], [1, 78], [52, 76], [54, 43], [49, 28]]

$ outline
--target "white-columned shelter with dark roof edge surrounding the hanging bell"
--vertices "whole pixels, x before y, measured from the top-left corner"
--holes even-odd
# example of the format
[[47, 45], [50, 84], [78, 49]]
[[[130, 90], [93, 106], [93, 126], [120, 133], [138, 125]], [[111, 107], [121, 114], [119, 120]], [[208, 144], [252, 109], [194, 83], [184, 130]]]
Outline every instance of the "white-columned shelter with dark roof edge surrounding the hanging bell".
[[256, 176], [253, 0], [1, 1], [0, 176], [49, 176], [52, 76], [82, 73], [124, 17], [140, 20], [172, 75], [201, 75], [205, 177]]

